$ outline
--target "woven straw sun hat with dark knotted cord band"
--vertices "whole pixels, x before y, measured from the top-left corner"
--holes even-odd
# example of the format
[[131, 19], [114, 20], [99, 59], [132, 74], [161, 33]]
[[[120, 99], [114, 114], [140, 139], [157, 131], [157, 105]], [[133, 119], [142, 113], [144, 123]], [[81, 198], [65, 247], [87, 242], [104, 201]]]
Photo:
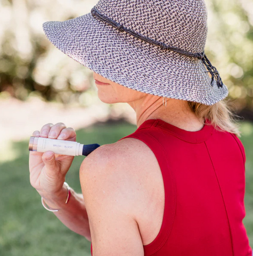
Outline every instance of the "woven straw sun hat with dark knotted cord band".
[[70, 58], [130, 89], [205, 105], [228, 95], [204, 52], [202, 0], [100, 0], [91, 12], [43, 29]]

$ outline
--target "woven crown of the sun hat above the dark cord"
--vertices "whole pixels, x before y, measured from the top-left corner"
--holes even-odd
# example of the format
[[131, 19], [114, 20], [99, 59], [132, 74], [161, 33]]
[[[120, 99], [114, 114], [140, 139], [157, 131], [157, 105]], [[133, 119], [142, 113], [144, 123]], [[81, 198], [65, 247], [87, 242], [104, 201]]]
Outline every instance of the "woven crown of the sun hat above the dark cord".
[[203, 52], [207, 8], [203, 0], [100, 0], [96, 9], [127, 29], [188, 52]]

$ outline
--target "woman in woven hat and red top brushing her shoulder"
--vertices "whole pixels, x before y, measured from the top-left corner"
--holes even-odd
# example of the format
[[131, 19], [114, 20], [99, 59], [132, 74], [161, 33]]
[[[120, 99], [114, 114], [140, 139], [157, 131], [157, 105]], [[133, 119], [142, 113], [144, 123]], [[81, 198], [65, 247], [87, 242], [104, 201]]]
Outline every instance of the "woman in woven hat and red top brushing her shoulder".
[[[91, 13], [43, 28], [94, 71], [100, 100], [128, 103], [137, 123], [84, 159], [82, 195], [64, 185], [74, 157], [30, 151], [44, 207], [92, 241], [93, 256], [251, 255], [246, 156], [227, 87], [204, 53], [205, 3], [100, 0]], [[63, 123], [33, 135], [76, 140]]]

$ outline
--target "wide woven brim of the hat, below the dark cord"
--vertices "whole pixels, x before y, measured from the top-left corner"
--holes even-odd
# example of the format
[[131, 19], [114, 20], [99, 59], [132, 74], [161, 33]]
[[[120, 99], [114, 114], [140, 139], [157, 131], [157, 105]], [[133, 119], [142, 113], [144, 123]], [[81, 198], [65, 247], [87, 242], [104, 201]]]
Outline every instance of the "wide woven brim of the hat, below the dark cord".
[[144, 42], [87, 13], [43, 23], [60, 51], [112, 82], [140, 92], [214, 105], [228, 89], [219, 87], [202, 60]]

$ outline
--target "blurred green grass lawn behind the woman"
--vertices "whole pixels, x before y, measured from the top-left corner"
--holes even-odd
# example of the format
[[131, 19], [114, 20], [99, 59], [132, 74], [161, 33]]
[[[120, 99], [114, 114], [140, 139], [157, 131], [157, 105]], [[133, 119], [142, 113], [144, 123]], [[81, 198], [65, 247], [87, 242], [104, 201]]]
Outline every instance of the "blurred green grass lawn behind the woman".
[[[77, 141], [85, 144], [113, 143], [134, 132], [127, 123], [96, 124], [77, 131]], [[241, 141], [246, 149], [246, 218], [250, 245], [253, 247], [253, 124], [244, 122]], [[0, 255], [1, 256], [63, 256], [91, 255], [84, 237], [65, 227], [53, 213], [46, 211], [40, 196], [29, 182], [28, 139], [13, 142], [16, 158], [0, 162]], [[78, 193], [79, 166], [84, 157], [74, 158], [66, 181]]]

